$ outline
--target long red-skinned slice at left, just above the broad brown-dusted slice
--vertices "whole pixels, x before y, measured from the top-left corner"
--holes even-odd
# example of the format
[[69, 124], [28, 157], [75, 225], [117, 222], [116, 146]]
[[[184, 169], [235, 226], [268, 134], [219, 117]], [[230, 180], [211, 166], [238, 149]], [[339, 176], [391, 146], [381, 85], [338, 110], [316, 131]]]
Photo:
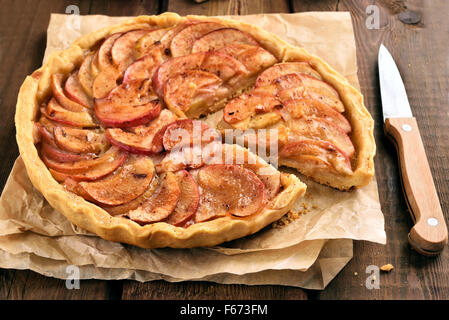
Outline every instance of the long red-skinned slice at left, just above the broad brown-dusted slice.
[[[85, 168], [83, 170], [76, 170], [79, 172], [67, 173], [61, 172], [59, 170], [51, 168], [47, 163], [48, 159], [43, 158], [44, 162], [50, 168], [50, 172], [57, 181], [65, 181], [67, 178], [72, 178], [76, 181], [94, 181], [101, 179], [108, 174], [114, 172], [118, 167], [120, 167], [128, 156], [126, 152], [119, 152], [115, 157], [109, 158], [109, 161], [98, 163], [97, 165]], [[89, 160], [84, 160], [89, 161]], [[83, 162], [83, 161], [79, 161]], [[72, 164], [78, 164], [79, 162], [74, 162]]]

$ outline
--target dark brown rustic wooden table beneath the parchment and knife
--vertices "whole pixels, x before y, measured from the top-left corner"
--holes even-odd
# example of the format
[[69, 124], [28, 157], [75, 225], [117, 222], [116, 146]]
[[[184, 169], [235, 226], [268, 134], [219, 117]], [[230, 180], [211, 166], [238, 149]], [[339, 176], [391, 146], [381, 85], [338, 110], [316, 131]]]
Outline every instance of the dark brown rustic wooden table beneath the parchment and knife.
[[[366, 26], [372, 0], [16, 0], [0, 1], [0, 185], [6, 182], [18, 156], [14, 130], [17, 93], [25, 76], [41, 65], [51, 12], [64, 13], [77, 5], [80, 14], [111, 16], [254, 14], [302, 11], [350, 11], [357, 41], [359, 80], [366, 105], [376, 121], [376, 175], [386, 219], [388, 243], [354, 243], [354, 258], [323, 291], [283, 286], [220, 285], [207, 282], [82, 281], [79, 290], [32, 271], [0, 270], [0, 299], [449, 299], [449, 249], [437, 258], [424, 258], [409, 248], [412, 226], [402, 198], [394, 147], [382, 129], [377, 50], [384, 43], [402, 72], [410, 104], [418, 120], [443, 212], [449, 211], [449, 2], [404, 1], [422, 13], [417, 25], [399, 21], [401, 1], [377, 1], [380, 28]], [[394, 4], [390, 4], [394, 3]], [[369, 265], [391, 263], [395, 269], [380, 276], [380, 289], [365, 287]]]

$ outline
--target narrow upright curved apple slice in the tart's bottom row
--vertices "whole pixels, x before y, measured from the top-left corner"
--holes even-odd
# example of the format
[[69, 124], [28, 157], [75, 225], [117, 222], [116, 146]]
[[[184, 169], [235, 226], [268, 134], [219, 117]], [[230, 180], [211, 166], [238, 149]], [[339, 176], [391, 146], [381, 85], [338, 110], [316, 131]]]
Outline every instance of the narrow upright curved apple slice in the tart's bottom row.
[[181, 195], [174, 211], [168, 216], [166, 222], [174, 226], [181, 226], [187, 222], [198, 209], [200, 192], [192, 175], [186, 170], [175, 173], [181, 189]]

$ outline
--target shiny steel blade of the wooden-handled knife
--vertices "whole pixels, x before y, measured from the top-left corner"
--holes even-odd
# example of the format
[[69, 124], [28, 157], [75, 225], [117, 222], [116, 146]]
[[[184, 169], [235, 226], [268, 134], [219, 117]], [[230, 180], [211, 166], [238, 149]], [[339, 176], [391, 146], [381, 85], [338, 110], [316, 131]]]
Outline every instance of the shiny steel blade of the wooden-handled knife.
[[387, 118], [413, 117], [401, 74], [393, 57], [383, 44], [380, 45], [378, 59], [384, 122]]

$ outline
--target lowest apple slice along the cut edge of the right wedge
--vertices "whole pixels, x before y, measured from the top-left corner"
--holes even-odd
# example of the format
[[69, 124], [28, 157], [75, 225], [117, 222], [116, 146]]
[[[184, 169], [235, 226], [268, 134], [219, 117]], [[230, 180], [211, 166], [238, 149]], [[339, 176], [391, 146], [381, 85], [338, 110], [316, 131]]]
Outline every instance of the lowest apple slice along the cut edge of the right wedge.
[[279, 157], [294, 160], [300, 172], [307, 176], [313, 177], [320, 171], [326, 175], [329, 170], [347, 175], [353, 173], [349, 158], [335, 145], [323, 140], [289, 142], [279, 152]]

